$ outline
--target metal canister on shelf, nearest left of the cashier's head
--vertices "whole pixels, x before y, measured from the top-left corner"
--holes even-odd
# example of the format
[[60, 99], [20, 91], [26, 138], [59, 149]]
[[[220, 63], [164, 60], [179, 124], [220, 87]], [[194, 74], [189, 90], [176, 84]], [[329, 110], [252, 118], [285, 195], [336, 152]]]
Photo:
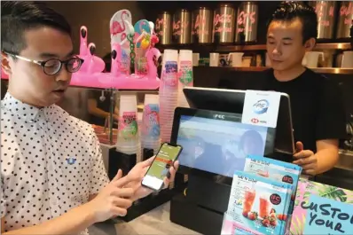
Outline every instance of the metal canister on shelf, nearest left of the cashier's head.
[[257, 38], [258, 6], [255, 2], [239, 5], [235, 43], [255, 43]]

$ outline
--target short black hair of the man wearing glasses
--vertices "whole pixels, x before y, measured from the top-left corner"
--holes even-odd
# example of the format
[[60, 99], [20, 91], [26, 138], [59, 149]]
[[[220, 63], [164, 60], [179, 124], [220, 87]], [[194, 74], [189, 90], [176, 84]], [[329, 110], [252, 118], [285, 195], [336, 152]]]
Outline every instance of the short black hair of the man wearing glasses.
[[19, 54], [27, 44], [23, 33], [38, 27], [53, 27], [71, 35], [71, 27], [58, 12], [40, 2], [1, 2], [1, 51]]

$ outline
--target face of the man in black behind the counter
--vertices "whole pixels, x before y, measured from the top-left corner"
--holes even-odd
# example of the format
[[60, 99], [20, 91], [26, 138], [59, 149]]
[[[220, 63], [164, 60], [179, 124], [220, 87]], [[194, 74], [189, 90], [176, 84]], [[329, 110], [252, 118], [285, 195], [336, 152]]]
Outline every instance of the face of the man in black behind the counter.
[[267, 31], [267, 53], [274, 70], [284, 71], [302, 66], [306, 51], [312, 49], [315, 40], [303, 43], [302, 21], [274, 20]]

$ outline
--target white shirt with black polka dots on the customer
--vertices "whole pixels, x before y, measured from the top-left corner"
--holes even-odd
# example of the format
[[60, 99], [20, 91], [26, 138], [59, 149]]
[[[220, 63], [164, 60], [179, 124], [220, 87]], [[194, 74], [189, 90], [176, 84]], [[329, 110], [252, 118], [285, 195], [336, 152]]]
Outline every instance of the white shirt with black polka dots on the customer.
[[[1, 102], [1, 217], [5, 231], [51, 220], [108, 183], [90, 124], [59, 106]], [[82, 231], [81, 234], [88, 234]]]

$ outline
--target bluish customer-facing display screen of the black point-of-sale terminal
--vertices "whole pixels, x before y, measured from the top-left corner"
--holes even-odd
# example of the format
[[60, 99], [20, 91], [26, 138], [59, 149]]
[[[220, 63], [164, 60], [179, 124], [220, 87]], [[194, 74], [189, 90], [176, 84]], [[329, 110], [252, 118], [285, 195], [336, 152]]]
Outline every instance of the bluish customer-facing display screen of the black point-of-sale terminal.
[[244, 168], [248, 154], [273, 152], [274, 133], [275, 129], [241, 123], [241, 114], [176, 108], [172, 140], [183, 146], [182, 171], [193, 168], [232, 177]]

